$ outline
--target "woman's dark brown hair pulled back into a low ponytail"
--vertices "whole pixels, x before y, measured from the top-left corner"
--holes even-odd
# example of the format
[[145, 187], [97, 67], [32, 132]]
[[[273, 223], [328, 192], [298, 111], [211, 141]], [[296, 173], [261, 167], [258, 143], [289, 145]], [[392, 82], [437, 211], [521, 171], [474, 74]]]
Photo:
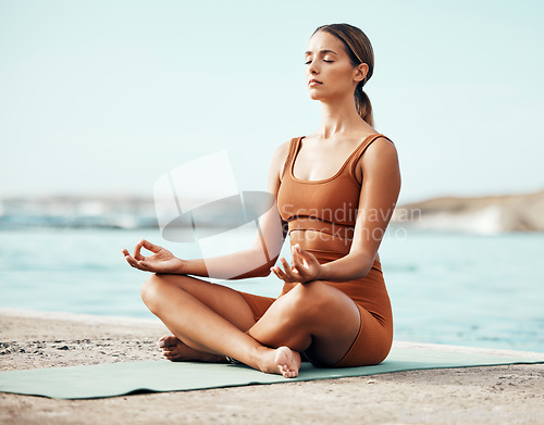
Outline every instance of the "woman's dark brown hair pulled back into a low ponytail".
[[[367, 35], [349, 24], [330, 24], [318, 27], [313, 34], [318, 32], [329, 33], [344, 42], [347, 54], [354, 66], [366, 63], [369, 66], [369, 72], [363, 80], [359, 82], [355, 88], [355, 105], [357, 112], [372, 127], [374, 126], [374, 117], [372, 114], [372, 104], [368, 95], [363, 91], [363, 86], [372, 76], [374, 70], [374, 51]], [[313, 36], [312, 34], [312, 36]]]

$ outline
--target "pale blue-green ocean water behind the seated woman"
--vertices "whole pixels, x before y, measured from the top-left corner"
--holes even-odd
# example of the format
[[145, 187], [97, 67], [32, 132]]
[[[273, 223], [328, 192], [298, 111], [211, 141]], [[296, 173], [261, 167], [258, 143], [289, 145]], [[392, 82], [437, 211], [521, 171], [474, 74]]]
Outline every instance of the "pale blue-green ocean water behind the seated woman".
[[[152, 317], [139, 299], [147, 274], [121, 253], [143, 237], [178, 257], [199, 255], [197, 245], [166, 242], [153, 228], [3, 229], [0, 307]], [[395, 339], [544, 352], [544, 234], [397, 228], [380, 255]], [[225, 284], [265, 296], [282, 287], [275, 276]]]

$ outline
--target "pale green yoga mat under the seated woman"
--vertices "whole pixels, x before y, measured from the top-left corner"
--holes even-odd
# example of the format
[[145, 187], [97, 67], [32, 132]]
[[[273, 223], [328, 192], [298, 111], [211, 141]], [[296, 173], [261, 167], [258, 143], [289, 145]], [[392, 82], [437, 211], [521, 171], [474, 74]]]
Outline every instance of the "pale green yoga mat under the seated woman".
[[45, 396], [55, 399], [91, 399], [123, 396], [135, 391], [185, 391], [330, 379], [425, 368], [486, 366], [515, 363], [544, 363], [504, 355], [468, 354], [422, 349], [393, 349], [376, 366], [317, 368], [302, 363], [300, 374], [287, 379], [244, 365], [172, 363], [165, 360], [110, 363], [91, 366], [37, 368], [0, 372], [0, 391]]

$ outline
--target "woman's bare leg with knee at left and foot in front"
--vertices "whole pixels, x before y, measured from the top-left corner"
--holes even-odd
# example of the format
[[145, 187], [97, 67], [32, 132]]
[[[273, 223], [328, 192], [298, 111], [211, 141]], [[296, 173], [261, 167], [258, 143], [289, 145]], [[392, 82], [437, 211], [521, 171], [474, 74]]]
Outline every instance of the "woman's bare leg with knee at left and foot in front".
[[152, 275], [141, 288], [141, 298], [177, 339], [195, 350], [230, 355], [267, 373], [298, 374], [297, 352], [286, 347], [276, 352], [244, 332], [255, 320], [245, 300], [230, 288], [188, 276]]

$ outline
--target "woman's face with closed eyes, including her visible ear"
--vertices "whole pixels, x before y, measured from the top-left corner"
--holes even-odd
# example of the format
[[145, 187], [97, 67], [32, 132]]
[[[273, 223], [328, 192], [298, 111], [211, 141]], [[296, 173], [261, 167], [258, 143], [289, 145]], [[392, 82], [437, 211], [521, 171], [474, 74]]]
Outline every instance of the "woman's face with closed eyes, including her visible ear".
[[310, 38], [305, 58], [306, 83], [314, 100], [353, 97], [368, 70], [366, 64], [354, 66], [344, 42], [325, 32]]

